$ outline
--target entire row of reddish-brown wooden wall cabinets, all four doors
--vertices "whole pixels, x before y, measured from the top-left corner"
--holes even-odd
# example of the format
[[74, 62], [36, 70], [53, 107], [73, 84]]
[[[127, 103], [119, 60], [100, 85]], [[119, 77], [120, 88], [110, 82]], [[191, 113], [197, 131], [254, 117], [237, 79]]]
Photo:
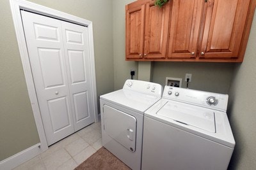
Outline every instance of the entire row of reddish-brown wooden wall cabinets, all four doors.
[[[242, 62], [255, 1], [170, 0], [163, 8], [149, 0], [128, 4], [126, 60]], [[138, 6], [140, 44], [132, 24]]]

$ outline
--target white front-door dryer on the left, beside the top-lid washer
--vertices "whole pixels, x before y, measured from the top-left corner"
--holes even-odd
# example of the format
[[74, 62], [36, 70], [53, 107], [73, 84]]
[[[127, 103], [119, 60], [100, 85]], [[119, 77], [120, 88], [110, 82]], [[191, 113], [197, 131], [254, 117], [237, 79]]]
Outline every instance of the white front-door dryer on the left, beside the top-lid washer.
[[162, 92], [157, 83], [126, 80], [123, 89], [100, 96], [102, 145], [132, 169], [141, 169], [144, 112]]

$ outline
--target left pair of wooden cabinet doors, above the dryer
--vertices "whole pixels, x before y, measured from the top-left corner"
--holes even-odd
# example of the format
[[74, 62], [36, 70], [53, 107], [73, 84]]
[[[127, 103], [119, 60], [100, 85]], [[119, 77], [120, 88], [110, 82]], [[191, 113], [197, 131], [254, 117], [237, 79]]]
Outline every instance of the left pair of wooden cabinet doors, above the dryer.
[[126, 58], [164, 59], [170, 3], [163, 8], [154, 1], [136, 1], [126, 6]]

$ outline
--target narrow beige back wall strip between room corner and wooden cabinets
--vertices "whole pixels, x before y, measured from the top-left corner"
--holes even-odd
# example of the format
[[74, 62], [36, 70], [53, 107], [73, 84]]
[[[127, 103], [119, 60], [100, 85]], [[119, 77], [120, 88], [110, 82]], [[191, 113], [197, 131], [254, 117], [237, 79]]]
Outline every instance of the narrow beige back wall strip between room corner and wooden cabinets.
[[134, 79], [138, 78], [138, 62], [125, 61], [125, 4], [135, 0], [113, 0], [113, 53], [114, 86], [122, 89], [125, 80], [131, 78], [130, 71], [135, 69]]

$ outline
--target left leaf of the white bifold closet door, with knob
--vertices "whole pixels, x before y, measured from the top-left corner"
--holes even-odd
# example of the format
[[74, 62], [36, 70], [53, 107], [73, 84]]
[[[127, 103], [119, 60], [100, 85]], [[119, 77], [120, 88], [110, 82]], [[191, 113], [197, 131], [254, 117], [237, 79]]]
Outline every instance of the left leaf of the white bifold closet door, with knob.
[[74, 132], [61, 20], [21, 11], [47, 144]]

